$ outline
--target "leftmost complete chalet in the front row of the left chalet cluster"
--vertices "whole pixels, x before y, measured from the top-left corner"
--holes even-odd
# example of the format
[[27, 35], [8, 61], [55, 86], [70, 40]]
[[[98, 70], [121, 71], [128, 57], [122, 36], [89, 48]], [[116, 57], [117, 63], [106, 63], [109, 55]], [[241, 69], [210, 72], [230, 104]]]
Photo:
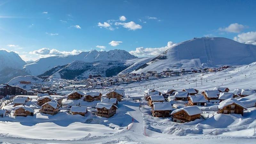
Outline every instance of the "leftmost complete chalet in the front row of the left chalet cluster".
[[14, 108], [13, 116], [33, 116], [34, 110], [26, 105], [18, 105]]

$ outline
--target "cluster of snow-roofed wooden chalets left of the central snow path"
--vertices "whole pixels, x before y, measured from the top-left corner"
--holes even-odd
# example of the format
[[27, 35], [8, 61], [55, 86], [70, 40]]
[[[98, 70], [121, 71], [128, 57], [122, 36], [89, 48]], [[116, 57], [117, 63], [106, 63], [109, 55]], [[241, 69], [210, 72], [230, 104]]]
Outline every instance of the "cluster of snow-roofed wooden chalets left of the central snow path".
[[[124, 90], [113, 90], [106, 93], [106, 98], [102, 98], [102, 94], [100, 92], [87, 92], [83, 93], [81, 91], [72, 91], [67, 96], [61, 97], [67, 98], [68, 100], [79, 100], [83, 99], [87, 102], [92, 102], [94, 100], [101, 100], [99, 103], [97, 103], [97, 106], [95, 107], [97, 112], [97, 116], [102, 117], [111, 117], [114, 114], [116, 114], [116, 110], [118, 109], [117, 104], [118, 101], [121, 101], [124, 97], [125, 93]], [[36, 103], [37, 107], [32, 107], [32, 105], [27, 106], [26, 104], [30, 101], [33, 101]], [[51, 95], [48, 94], [38, 94], [36, 101], [31, 100], [29, 96], [25, 95], [17, 95], [12, 100], [13, 107], [14, 107], [14, 113], [13, 116], [33, 116], [34, 115], [34, 109], [40, 108], [39, 112], [49, 115], [55, 115], [59, 112], [59, 108], [61, 108], [61, 104], [59, 99], [56, 97], [53, 98]], [[79, 114], [82, 116], [85, 116], [87, 112], [86, 106], [72, 106], [70, 108], [71, 114]], [[6, 114], [9, 114], [10, 112], [7, 112], [6, 110], [0, 111], [0, 116], [5, 116]]]

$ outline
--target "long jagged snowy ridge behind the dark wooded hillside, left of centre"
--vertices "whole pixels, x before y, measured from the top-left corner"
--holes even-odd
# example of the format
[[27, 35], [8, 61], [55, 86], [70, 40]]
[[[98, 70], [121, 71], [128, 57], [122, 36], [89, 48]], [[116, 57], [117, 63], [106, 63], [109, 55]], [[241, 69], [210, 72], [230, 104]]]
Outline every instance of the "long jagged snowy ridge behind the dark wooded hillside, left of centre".
[[24, 66], [24, 70], [33, 76], [43, 74], [44, 72], [54, 68], [55, 66], [63, 66], [73, 61], [84, 61], [84, 62], [94, 62], [94, 61], [105, 61], [105, 60], [128, 60], [137, 58], [126, 52], [124, 50], [110, 50], [106, 51], [90, 51], [81, 52], [77, 55], [68, 56], [53, 56], [48, 58], [41, 58], [33, 63], [29, 63]]

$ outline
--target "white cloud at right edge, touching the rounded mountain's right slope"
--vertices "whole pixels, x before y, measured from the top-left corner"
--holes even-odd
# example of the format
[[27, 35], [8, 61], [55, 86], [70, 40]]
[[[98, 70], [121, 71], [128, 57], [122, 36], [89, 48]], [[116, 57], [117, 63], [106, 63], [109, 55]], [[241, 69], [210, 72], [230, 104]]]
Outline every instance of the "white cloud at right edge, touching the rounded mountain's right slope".
[[256, 45], [256, 31], [239, 34], [234, 37], [234, 40], [240, 43]]

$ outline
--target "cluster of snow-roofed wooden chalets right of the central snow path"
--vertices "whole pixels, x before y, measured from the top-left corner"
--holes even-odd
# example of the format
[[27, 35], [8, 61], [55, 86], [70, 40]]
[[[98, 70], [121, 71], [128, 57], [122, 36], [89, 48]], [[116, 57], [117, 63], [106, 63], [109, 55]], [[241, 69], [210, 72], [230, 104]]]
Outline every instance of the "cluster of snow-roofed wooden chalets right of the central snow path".
[[[183, 123], [200, 118], [200, 114], [203, 112], [198, 106], [205, 106], [205, 103], [219, 103], [218, 113], [241, 114], [243, 116], [246, 107], [234, 98], [255, 94], [256, 90], [235, 89], [234, 92], [229, 92], [226, 87], [215, 87], [213, 90], [206, 90], [201, 93], [194, 88], [185, 88], [181, 91], [168, 89], [163, 93], [148, 89], [144, 92], [145, 100], [151, 107], [152, 116], [172, 117], [174, 122]], [[172, 110], [171, 102], [167, 102], [172, 97], [174, 97], [174, 101], [184, 101], [185, 107]]]

